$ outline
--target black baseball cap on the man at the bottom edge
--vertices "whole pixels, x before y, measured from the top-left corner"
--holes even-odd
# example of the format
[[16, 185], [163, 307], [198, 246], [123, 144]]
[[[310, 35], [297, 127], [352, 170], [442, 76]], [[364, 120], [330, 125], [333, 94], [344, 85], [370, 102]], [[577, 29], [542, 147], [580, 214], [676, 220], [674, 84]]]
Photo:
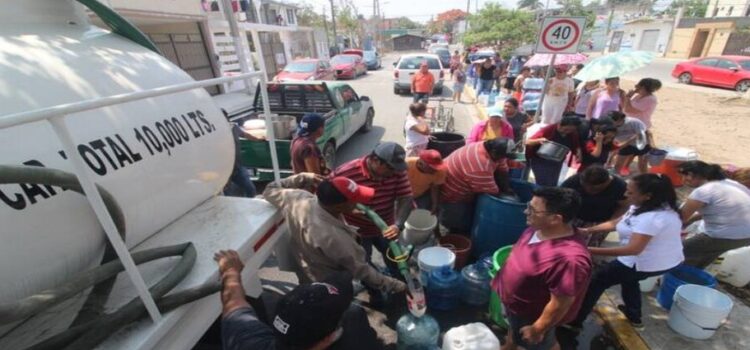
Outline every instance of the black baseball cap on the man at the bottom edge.
[[352, 276], [334, 273], [322, 282], [299, 285], [276, 304], [277, 349], [309, 349], [339, 327], [354, 298]]

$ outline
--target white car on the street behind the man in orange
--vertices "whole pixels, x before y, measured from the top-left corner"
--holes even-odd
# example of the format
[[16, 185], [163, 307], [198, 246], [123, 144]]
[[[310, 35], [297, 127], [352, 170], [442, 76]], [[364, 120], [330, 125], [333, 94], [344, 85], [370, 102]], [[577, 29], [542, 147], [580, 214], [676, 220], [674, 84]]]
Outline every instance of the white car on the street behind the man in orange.
[[441, 95], [443, 93], [445, 72], [443, 72], [443, 65], [440, 63], [440, 58], [433, 54], [409, 54], [401, 56], [398, 61], [393, 63], [393, 66], [396, 68], [393, 71], [394, 94], [398, 95], [402, 91], [409, 92], [411, 90], [411, 78], [419, 71], [419, 66], [422, 62], [427, 62], [430, 73], [435, 78], [435, 87], [432, 90], [433, 95]]

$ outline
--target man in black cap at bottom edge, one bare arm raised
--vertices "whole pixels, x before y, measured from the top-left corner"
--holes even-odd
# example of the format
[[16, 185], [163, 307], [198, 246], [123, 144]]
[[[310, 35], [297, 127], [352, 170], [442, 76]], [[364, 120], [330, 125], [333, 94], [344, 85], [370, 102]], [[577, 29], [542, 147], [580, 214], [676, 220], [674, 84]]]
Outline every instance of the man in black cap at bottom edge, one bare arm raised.
[[258, 320], [245, 299], [237, 252], [219, 251], [221, 338], [225, 350], [379, 349], [381, 342], [365, 311], [351, 304], [351, 276], [334, 274], [323, 282], [303, 284], [276, 304], [271, 326]]

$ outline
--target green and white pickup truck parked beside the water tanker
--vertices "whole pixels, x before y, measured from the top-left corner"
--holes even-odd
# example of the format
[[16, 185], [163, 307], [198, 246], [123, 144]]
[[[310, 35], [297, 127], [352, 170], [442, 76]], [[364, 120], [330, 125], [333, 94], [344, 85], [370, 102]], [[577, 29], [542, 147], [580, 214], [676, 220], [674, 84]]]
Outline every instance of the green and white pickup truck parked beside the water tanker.
[[[282, 82], [268, 84], [271, 112], [292, 115], [299, 123], [305, 113], [320, 113], [326, 118], [325, 133], [318, 139], [330, 169], [334, 168], [336, 149], [352, 135], [372, 129], [375, 109], [367, 96], [359, 96], [346, 83], [339, 82]], [[263, 112], [261, 96], [256, 92], [253, 113], [244, 122], [260, 118]], [[276, 154], [282, 177], [291, 175], [291, 140], [276, 140]], [[272, 181], [271, 147], [268, 141], [240, 139], [241, 161], [245, 167], [255, 169], [253, 180]]]

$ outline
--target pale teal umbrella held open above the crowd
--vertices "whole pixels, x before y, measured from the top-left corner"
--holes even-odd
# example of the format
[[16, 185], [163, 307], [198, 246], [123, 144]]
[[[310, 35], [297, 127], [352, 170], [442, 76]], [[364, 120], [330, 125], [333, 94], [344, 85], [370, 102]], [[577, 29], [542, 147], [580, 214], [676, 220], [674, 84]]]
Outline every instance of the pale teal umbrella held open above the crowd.
[[597, 57], [587, 63], [575, 78], [591, 81], [619, 77], [647, 66], [656, 55], [646, 51], [623, 51]]

